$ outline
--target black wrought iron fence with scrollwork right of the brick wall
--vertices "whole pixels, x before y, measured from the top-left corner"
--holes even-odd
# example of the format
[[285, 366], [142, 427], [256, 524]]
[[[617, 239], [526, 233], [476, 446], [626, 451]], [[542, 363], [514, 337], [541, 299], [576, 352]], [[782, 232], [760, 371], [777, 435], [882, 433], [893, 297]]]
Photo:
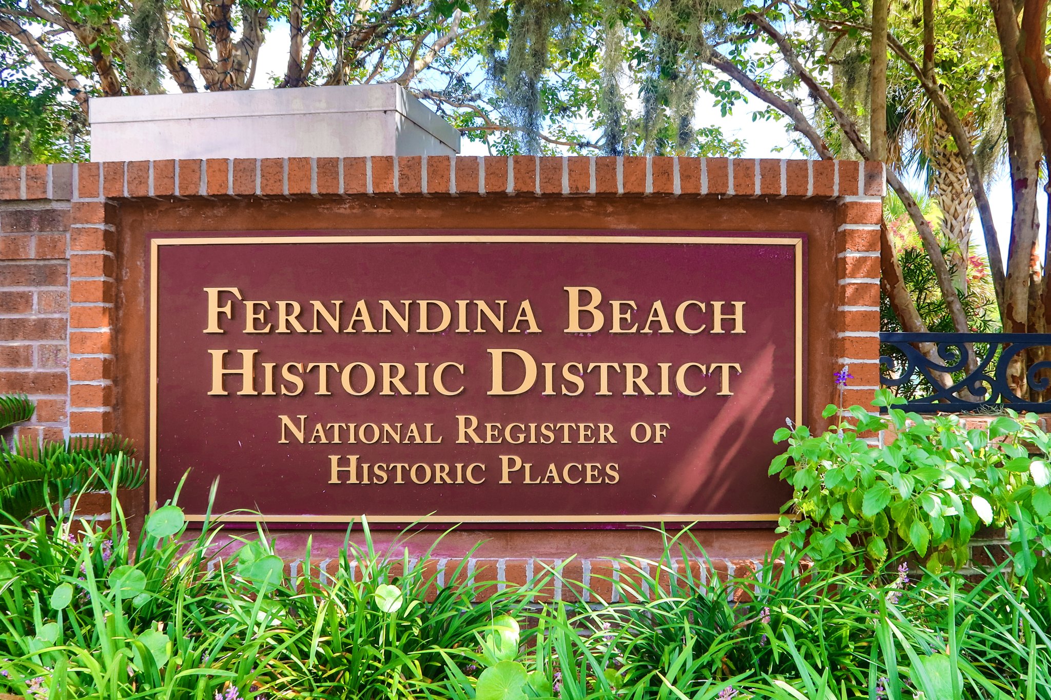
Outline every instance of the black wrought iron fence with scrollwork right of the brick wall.
[[909, 410], [1051, 412], [1051, 334], [881, 333], [880, 342], [880, 382]]

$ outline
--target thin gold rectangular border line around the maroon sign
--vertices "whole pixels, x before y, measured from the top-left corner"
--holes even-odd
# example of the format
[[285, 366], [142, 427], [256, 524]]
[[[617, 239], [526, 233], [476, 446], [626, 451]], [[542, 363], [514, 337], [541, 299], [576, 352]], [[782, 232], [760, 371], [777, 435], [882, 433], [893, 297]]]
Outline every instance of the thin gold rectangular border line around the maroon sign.
[[[248, 246], [267, 243], [707, 243], [736, 246], [791, 246], [796, 262], [796, 424], [803, 423], [803, 238], [769, 236], [633, 236], [633, 235], [303, 235], [303, 236], [194, 236], [152, 238], [149, 253], [149, 511], [157, 509], [157, 301], [161, 246]], [[780, 513], [653, 515], [368, 515], [373, 523], [757, 523], [777, 522]], [[205, 519], [226, 523], [352, 523], [358, 515], [186, 515], [191, 523]]]

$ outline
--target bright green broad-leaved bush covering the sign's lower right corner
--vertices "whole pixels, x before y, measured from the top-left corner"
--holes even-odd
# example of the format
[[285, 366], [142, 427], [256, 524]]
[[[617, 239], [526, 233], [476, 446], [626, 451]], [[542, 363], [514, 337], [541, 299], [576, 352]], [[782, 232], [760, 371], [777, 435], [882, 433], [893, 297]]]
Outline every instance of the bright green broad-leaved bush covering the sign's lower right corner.
[[[863, 551], [874, 563], [912, 550], [933, 571], [960, 568], [978, 528], [1006, 529], [1019, 575], [1048, 570], [1051, 552], [1051, 438], [1032, 416], [1009, 412], [986, 428], [967, 429], [956, 416], [923, 417], [894, 406], [904, 401], [881, 389], [873, 415], [842, 411], [819, 436], [805, 426], [781, 428], [787, 441], [770, 465], [795, 488], [781, 530], [816, 551]], [[826, 418], [841, 412], [829, 405]], [[862, 433], [886, 431], [882, 446]], [[1030, 451], [1036, 450], [1032, 457]]]

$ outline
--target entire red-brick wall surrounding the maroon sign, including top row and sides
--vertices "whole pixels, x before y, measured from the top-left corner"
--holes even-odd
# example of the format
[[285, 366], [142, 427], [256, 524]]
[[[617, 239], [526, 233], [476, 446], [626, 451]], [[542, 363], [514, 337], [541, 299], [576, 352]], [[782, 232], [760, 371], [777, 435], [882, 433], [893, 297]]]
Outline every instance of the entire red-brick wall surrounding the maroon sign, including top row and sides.
[[[24, 434], [61, 438], [115, 429], [115, 382], [121, 360], [116, 342], [118, 227], [120, 207], [128, 201], [182, 199], [221, 205], [236, 198], [392, 201], [403, 197], [532, 196], [653, 197], [674, 206], [678, 198], [768, 203], [788, 198], [836, 207], [837, 229], [829, 235], [836, 240], [840, 321], [830, 330], [829, 340], [836, 368], [849, 365], [854, 377], [848, 383], [846, 400], [866, 404], [879, 384], [883, 193], [883, 166], [854, 161], [386, 156], [0, 168], [0, 393], [24, 391], [38, 401], [38, 416], [20, 428]], [[825, 336], [819, 333], [813, 338], [824, 341]], [[811, 377], [810, 382], [830, 386], [831, 377]], [[831, 390], [828, 394], [831, 396]], [[535, 534], [543, 537], [550, 533]], [[755, 552], [763, 549], [758, 543], [766, 539], [727, 538], [730, 534], [704, 533], [710, 539], [706, 546], [722, 543], [716, 548], [720, 553], [713, 556], [708, 574], [741, 574], [758, 566]], [[605, 596], [610, 590], [606, 579], [621, 575], [610, 555], [657, 555], [652, 544], [630, 535], [618, 535], [620, 551], [606, 551], [609, 547], [597, 551], [600, 547], [596, 545], [586, 552], [578, 549], [575, 558], [566, 552], [568, 563], [558, 556], [541, 557], [536, 549], [522, 551], [520, 545], [508, 545], [504, 552], [472, 559], [469, 570], [477, 572], [479, 579], [522, 582], [541, 573], [544, 566], [564, 564], [565, 579], [581, 581]], [[294, 544], [294, 535], [286, 542], [292, 544], [286, 545], [282, 554], [290, 568], [304, 566], [296, 558], [303, 550]], [[632, 542], [635, 544], [625, 544]], [[737, 543], [743, 542], [750, 543], [748, 553], [735, 554]], [[470, 545], [454, 549], [461, 555]], [[434, 560], [435, 571], [441, 572], [439, 580], [451, 575], [459, 555], [450, 552]], [[328, 565], [323, 559], [312, 566]], [[571, 586], [556, 582], [552, 595], [569, 598], [574, 594]]]

